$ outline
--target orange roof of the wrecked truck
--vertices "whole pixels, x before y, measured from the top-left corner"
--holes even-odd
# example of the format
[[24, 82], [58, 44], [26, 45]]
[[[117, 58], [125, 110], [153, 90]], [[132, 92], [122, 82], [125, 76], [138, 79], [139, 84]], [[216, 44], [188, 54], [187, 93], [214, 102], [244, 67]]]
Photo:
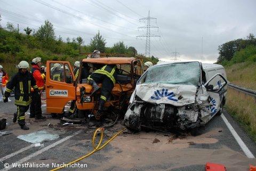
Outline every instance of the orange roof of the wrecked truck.
[[85, 58], [82, 62], [102, 64], [131, 64], [135, 58], [109, 57], [109, 58]]

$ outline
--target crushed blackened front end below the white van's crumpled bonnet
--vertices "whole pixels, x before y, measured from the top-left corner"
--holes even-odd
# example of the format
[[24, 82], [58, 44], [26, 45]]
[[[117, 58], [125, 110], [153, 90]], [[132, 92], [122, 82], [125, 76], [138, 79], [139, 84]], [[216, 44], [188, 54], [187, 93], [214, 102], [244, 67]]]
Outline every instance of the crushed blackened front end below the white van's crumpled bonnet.
[[175, 107], [170, 104], [153, 104], [134, 101], [126, 111], [126, 127], [140, 131], [141, 125], [164, 129], [195, 128], [199, 125], [198, 109], [195, 104]]

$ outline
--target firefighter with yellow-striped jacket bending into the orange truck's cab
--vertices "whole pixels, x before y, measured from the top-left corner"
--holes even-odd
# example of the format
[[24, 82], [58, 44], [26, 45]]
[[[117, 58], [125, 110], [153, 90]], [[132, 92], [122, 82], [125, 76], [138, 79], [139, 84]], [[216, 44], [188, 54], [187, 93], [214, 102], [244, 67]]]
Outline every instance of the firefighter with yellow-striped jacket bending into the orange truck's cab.
[[99, 108], [95, 114], [96, 119], [100, 119], [103, 115], [103, 107], [111, 94], [112, 89], [116, 83], [117, 67], [115, 64], [107, 64], [100, 69], [95, 70], [88, 78], [88, 83], [93, 86], [93, 92], [97, 92], [100, 87], [99, 83], [102, 83], [101, 86], [101, 95], [99, 100]]

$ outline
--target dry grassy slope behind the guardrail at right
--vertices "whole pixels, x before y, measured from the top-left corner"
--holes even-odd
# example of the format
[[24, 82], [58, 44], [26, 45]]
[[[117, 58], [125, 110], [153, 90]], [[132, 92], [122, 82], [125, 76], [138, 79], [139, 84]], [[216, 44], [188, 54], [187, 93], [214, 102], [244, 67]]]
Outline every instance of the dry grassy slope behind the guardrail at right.
[[255, 62], [236, 63], [225, 68], [230, 83], [256, 90]]

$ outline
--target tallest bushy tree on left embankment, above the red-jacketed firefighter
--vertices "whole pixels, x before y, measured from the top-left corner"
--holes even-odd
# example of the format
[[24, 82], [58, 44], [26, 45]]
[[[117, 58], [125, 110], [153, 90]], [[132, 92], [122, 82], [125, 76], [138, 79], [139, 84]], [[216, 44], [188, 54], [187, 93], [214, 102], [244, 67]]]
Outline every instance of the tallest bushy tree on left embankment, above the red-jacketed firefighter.
[[44, 43], [54, 40], [55, 34], [52, 23], [45, 20], [44, 25], [37, 30], [36, 37]]

